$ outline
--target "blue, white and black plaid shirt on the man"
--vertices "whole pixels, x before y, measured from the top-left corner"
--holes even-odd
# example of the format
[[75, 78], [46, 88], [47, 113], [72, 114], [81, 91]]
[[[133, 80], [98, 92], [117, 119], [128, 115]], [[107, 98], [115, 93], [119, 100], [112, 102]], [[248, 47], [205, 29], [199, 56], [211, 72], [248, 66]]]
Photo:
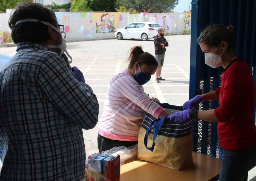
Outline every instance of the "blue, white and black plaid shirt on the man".
[[0, 180], [83, 180], [82, 129], [96, 125], [98, 112], [96, 95], [67, 57], [18, 43], [0, 72], [0, 124], [8, 133]]

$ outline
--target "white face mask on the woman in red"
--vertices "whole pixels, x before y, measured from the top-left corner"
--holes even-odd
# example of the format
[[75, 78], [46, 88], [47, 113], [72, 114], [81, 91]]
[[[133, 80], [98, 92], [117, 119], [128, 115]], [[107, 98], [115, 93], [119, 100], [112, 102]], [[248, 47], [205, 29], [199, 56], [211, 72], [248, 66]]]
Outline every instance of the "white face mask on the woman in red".
[[[219, 46], [220, 45], [221, 44], [219, 44]], [[216, 50], [219, 48], [219, 46], [216, 48]], [[216, 52], [216, 50], [214, 51], [214, 53]], [[221, 55], [216, 55], [214, 53], [213, 54], [204, 53], [204, 63], [215, 69], [222, 65], [223, 61], [222, 61], [221, 55], [224, 53], [224, 51], [222, 52]]]

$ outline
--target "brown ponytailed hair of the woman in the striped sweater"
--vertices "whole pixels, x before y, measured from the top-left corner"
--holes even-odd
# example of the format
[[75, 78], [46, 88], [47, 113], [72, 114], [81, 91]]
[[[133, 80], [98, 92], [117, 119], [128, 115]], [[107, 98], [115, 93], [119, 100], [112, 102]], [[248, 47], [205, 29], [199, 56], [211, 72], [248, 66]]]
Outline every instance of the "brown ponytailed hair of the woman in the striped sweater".
[[139, 65], [153, 65], [155, 67], [158, 66], [156, 58], [148, 52], [144, 52], [141, 46], [135, 46], [130, 50], [130, 56], [127, 61], [129, 62], [128, 69], [132, 69], [134, 64], [138, 62]]

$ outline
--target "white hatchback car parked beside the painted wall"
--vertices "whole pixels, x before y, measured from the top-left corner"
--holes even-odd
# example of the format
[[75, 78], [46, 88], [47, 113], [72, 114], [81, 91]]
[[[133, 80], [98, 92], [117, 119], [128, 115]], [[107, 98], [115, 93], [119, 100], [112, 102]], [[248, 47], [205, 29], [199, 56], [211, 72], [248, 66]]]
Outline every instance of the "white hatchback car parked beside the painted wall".
[[149, 38], [154, 38], [158, 34], [159, 28], [161, 28], [161, 26], [153, 22], [131, 23], [123, 28], [117, 29], [115, 37], [118, 40], [130, 38], [147, 41]]

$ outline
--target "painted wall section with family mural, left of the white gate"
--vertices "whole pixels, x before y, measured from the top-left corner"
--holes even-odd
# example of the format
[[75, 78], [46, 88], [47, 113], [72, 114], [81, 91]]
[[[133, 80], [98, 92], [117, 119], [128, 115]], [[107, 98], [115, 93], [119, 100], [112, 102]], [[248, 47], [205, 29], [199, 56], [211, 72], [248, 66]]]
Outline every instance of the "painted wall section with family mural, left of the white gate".
[[128, 13], [56, 12], [58, 23], [64, 25], [67, 39], [114, 37], [118, 28], [128, 24]]

